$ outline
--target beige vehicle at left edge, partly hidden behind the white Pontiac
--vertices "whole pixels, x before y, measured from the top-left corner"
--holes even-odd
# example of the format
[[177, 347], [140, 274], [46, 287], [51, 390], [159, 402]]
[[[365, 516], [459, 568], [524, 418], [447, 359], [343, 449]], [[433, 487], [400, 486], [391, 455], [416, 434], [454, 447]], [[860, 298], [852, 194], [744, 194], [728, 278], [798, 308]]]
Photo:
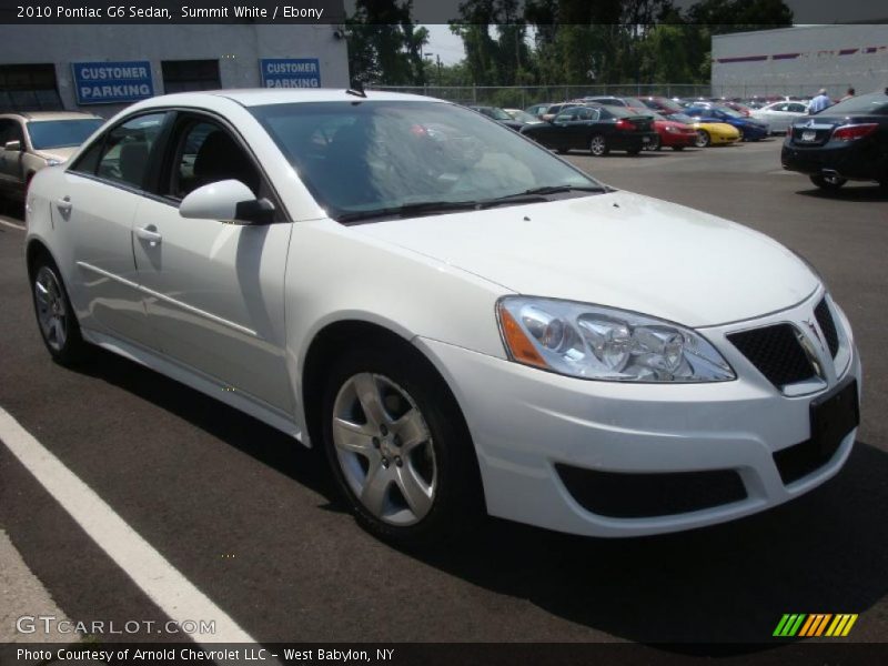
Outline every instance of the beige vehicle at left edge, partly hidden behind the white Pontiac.
[[64, 162], [102, 123], [91, 113], [0, 113], [0, 194], [23, 200], [34, 173]]

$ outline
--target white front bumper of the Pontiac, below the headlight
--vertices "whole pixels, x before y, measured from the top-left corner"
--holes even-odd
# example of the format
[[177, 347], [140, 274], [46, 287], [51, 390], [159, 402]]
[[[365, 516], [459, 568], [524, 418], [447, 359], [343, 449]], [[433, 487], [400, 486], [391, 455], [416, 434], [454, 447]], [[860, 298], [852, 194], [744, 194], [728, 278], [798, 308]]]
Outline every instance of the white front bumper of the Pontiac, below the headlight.
[[[731, 521], [777, 506], [835, 475], [856, 430], [810, 474], [784, 483], [774, 453], [810, 438], [809, 405], [840, 382], [860, 382], [850, 329], [829, 386], [789, 397], [725, 339], [749, 325], [804, 321], [815, 294], [790, 310], [702, 330], [737, 371], [730, 382], [628, 384], [584, 381], [417, 339], [454, 390], [472, 433], [491, 515], [589, 536], [637, 536]], [[837, 361], [839, 356], [837, 356]], [[736, 473], [745, 498], [669, 515], [614, 517], [584, 507], [558, 470], [633, 475]], [[678, 475], [682, 477], [682, 475]]]

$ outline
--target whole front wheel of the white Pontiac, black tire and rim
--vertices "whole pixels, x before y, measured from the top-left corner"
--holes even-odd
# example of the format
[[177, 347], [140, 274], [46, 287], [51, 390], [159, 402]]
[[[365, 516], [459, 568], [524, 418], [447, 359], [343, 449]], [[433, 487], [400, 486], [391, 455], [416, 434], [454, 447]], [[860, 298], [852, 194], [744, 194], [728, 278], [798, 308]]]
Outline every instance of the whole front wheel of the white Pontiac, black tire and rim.
[[346, 351], [326, 382], [322, 420], [336, 485], [374, 536], [423, 547], [463, 533], [483, 515], [462, 413], [412, 347]]

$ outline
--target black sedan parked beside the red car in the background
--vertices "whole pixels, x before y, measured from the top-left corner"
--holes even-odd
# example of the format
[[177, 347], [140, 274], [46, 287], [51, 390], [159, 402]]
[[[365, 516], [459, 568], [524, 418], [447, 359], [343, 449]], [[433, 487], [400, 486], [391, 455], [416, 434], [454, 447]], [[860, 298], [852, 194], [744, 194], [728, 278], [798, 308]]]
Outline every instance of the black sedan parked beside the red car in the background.
[[522, 134], [555, 149], [587, 150], [603, 157], [612, 150], [638, 154], [657, 139], [654, 119], [622, 107], [572, 107], [551, 122], [525, 125]]

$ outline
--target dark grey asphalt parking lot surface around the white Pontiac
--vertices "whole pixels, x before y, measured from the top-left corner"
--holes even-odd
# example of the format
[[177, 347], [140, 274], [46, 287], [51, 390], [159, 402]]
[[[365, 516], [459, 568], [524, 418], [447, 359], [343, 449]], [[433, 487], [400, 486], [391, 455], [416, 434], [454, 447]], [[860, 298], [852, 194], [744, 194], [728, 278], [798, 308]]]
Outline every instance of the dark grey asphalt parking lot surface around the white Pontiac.
[[[610, 185], [776, 238], [850, 317], [865, 373], [856, 450], [838, 477], [769, 513], [625, 541], [490, 521], [472, 543], [397, 552], [354, 524], [325, 468], [283, 434], [107, 353], [88, 371], [52, 363], [9, 219], [0, 406], [261, 642], [767, 642], [784, 613], [821, 612], [858, 613], [848, 639], [885, 642], [888, 193], [823, 195], [780, 169], [779, 147], [568, 155]], [[163, 619], [2, 445], [0, 528], [69, 617]]]

